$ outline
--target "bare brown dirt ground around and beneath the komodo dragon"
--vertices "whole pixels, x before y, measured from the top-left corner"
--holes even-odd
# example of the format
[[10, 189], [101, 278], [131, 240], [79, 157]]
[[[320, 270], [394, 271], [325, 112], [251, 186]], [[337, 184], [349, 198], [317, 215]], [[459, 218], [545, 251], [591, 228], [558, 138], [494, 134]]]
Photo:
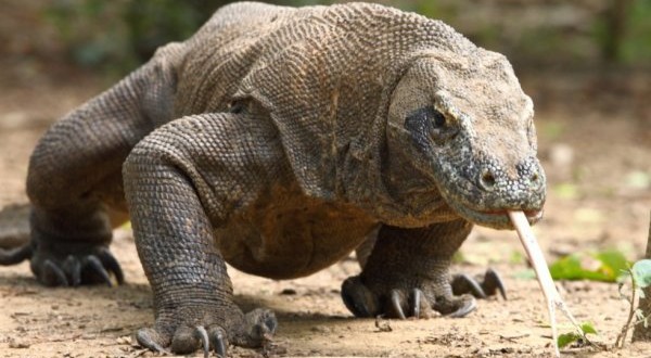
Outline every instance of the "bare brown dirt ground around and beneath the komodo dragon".
[[[545, 73], [522, 78], [537, 105], [540, 157], [548, 172], [546, 218], [535, 227], [548, 260], [609, 247], [639, 258], [651, 209], [651, 77]], [[26, 201], [28, 155], [47, 126], [106, 85], [67, 68], [3, 65], [0, 206]], [[127, 277], [127, 284], [113, 289], [46, 289], [35, 281], [28, 263], [0, 268], [0, 357], [152, 356], [130, 338], [153, 321], [151, 292], [131, 233], [116, 231], [112, 250]], [[515, 234], [477, 228], [461, 252], [454, 271], [478, 274], [488, 266], [496, 268], [509, 299], [481, 301], [463, 319], [380, 322], [391, 332], [372, 319], [352, 318], [342, 304], [342, 280], [359, 271], [352, 259], [291, 281], [229, 272], [245, 310], [266, 306], [277, 312], [280, 329], [271, 356], [550, 356], [542, 294], [535, 280], [522, 278], [527, 267]], [[627, 315], [615, 284], [559, 282], [559, 287], [577, 319], [598, 329], [595, 341], [611, 347], [569, 348], [564, 356], [651, 357], [651, 344], [612, 349]], [[260, 355], [238, 348], [231, 353]]]

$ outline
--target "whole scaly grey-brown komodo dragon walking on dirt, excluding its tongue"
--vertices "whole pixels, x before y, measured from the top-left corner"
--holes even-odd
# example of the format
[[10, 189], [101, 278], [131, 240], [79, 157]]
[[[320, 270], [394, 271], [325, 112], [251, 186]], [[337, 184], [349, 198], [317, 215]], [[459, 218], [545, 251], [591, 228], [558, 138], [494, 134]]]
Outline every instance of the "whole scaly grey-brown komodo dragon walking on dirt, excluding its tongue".
[[473, 225], [512, 229], [508, 209], [537, 221], [545, 175], [503, 55], [378, 4], [247, 2], [54, 124], [27, 192], [30, 243], [3, 264], [122, 283], [108, 244], [130, 218], [155, 310], [138, 342], [225, 355], [277, 327], [235, 306], [226, 263], [290, 279], [361, 245], [342, 286], [355, 316], [467, 315], [501, 283], [451, 280], [452, 254]]

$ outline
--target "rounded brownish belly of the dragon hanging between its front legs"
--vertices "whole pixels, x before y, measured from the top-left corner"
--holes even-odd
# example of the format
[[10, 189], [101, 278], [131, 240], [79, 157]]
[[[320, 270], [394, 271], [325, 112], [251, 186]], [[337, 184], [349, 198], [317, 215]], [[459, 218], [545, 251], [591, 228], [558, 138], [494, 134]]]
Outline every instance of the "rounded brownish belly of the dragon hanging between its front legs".
[[292, 279], [346, 257], [375, 228], [361, 209], [277, 192], [215, 231], [227, 263], [244, 272]]

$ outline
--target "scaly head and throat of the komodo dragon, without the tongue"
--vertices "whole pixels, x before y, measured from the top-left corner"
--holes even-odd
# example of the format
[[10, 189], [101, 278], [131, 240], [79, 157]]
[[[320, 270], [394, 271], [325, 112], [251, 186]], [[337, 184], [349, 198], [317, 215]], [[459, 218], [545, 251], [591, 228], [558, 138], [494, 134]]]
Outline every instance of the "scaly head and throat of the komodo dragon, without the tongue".
[[367, 141], [352, 150], [360, 174], [348, 190], [380, 221], [422, 227], [461, 217], [512, 229], [508, 210], [540, 219], [545, 174], [532, 101], [503, 56], [477, 52], [420, 55], [387, 87]]

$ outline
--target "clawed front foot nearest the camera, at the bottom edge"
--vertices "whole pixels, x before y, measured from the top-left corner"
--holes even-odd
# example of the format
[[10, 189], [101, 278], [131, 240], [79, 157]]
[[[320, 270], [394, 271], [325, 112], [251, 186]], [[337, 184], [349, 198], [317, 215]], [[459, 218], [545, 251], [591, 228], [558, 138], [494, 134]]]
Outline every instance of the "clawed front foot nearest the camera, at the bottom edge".
[[[168, 315], [162, 315], [154, 328], [140, 329], [136, 340], [141, 346], [162, 354], [190, 354], [202, 349], [204, 357], [210, 351], [227, 357], [229, 343], [260, 347], [271, 340], [278, 327], [276, 315], [267, 309], [254, 309], [243, 315], [239, 308], [231, 308], [227, 319], [218, 311], [199, 314], [193, 310], [189, 315], [175, 315], [180, 320], [176, 323]], [[195, 319], [197, 317], [201, 318]]]

